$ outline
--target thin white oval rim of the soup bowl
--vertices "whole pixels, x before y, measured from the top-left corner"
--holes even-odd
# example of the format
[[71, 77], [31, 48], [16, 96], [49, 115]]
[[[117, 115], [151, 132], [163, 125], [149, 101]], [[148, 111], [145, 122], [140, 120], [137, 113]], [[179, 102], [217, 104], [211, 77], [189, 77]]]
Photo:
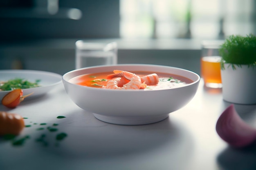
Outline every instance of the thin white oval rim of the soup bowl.
[[[78, 71], [81, 71], [81, 70], [85, 70], [85, 69], [93, 69], [93, 68], [104, 68], [104, 67], [121, 67], [121, 66], [125, 66], [125, 67], [129, 67], [129, 66], [132, 66], [132, 67], [135, 67], [135, 66], [140, 66], [140, 67], [162, 67], [162, 68], [171, 68], [171, 69], [177, 69], [177, 70], [181, 70], [181, 71], [184, 71], [184, 72], [189, 72], [191, 74], [194, 74], [197, 78], [195, 81], [193, 81], [192, 83], [189, 83], [189, 84], [186, 84], [182, 87], [173, 87], [173, 88], [170, 88], [170, 89], [177, 89], [177, 88], [184, 88], [184, 87], [187, 87], [187, 86], [191, 86], [193, 84], [196, 84], [200, 81], [200, 76], [195, 73], [195, 72], [192, 72], [190, 70], [187, 70], [187, 69], [183, 69], [183, 68], [179, 68], [179, 67], [172, 67], [172, 66], [167, 66], [167, 65], [153, 65], [153, 64], [115, 64], [115, 65], [97, 65], [97, 66], [91, 66], [91, 67], [84, 67], [84, 68], [80, 68], [80, 69], [74, 69], [74, 70], [71, 70], [69, 72], [66, 72], [65, 74], [63, 74], [62, 76], [62, 81], [63, 83], [68, 83], [68, 84], [72, 84], [72, 85], [75, 85], [75, 86], [78, 86], [78, 87], [83, 87], [85, 89], [94, 89], [94, 90], [109, 90], [109, 91], [126, 91], [126, 92], [129, 92], [129, 91], [133, 91], [133, 92], [153, 92], [153, 91], [162, 91], [162, 90], [170, 90], [170, 89], [154, 89], [154, 90], [144, 90], [144, 89], [104, 89], [104, 88], [95, 88], [95, 87], [88, 87], [88, 86], [83, 86], [83, 85], [77, 85], [77, 84], [74, 84], [74, 83], [70, 83], [69, 80], [66, 80], [65, 77], [69, 74], [72, 74], [74, 72], [78, 72]], [[83, 75], [83, 74], [81, 74]], [[77, 76], [80, 76], [80, 75], [77, 75]]]

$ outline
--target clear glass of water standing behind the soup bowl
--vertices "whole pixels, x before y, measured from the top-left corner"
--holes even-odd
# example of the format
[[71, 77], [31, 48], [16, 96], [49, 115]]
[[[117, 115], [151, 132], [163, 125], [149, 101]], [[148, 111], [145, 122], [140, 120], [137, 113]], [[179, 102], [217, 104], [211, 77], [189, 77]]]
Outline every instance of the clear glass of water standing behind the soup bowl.
[[117, 42], [76, 41], [76, 69], [117, 64]]

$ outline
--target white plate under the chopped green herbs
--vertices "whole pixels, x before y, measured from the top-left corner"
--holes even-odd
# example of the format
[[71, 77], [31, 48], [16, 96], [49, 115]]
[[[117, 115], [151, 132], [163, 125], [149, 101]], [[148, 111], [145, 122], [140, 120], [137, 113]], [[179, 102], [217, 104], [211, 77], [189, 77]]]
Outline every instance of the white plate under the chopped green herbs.
[[[9, 69], [9, 70], [0, 70], [0, 81], [8, 81], [14, 78], [23, 78], [24, 80], [35, 82], [36, 80], [40, 80], [38, 83], [40, 87], [34, 87], [29, 89], [22, 89], [23, 95], [30, 94], [34, 92], [28, 98], [34, 98], [46, 94], [51, 89], [53, 89], [56, 85], [62, 83], [60, 74], [52, 73], [52, 72], [44, 72], [44, 71], [36, 71], [36, 70], [22, 70], [22, 69]], [[11, 91], [1, 91], [0, 92], [0, 100]]]

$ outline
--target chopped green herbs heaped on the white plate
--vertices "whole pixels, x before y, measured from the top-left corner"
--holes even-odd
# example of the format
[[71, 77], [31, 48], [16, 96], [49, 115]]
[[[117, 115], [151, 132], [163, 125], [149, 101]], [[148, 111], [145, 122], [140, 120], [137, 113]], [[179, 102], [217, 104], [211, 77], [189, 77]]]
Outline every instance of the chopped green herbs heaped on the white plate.
[[39, 82], [40, 80], [36, 80], [35, 82], [30, 82], [30, 81], [24, 80], [23, 78], [15, 78], [6, 82], [1, 82], [0, 91], [40, 87], [40, 85], [38, 84]]

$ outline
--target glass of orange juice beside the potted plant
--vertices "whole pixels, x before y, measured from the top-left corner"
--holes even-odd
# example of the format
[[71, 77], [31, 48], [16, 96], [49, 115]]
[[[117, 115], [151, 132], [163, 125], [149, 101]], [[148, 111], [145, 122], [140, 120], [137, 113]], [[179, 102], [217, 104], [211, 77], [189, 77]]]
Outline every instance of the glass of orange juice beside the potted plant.
[[206, 87], [222, 88], [219, 56], [219, 47], [222, 43], [222, 40], [202, 42], [201, 77]]

